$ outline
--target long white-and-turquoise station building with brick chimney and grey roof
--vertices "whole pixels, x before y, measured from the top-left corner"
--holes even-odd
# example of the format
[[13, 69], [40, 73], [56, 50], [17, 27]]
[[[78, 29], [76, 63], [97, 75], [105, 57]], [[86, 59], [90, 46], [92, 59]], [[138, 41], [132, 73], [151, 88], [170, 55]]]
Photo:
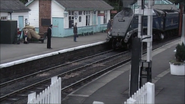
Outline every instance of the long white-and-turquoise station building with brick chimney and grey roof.
[[113, 9], [104, 0], [29, 0], [25, 6], [31, 10], [30, 26], [42, 34], [53, 24], [53, 37], [73, 35], [74, 23], [78, 34], [106, 30]]

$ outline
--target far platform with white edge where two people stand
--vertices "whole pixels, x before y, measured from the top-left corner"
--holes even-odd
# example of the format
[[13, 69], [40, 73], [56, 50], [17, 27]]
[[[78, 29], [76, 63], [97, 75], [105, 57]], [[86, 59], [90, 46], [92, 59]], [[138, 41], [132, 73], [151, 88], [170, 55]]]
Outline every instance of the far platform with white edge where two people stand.
[[79, 36], [77, 42], [73, 41], [73, 37], [51, 38], [51, 48], [47, 49], [47, 39], [44, 43], [32, 42], [29, 44], [0, 44], [0, 64], [29, 58], [49, 52], [64, 50], [81, 45], [92, 44], [96, 42], [106, 41], [106, 33], [95, 33], [93, 35]]

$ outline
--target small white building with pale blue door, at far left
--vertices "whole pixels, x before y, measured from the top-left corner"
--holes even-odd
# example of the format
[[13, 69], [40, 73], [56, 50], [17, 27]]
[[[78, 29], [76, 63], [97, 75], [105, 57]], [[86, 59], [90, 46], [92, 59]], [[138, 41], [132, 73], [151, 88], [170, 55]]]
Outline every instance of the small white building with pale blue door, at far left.
[[30, 9], [19, 0], [0, 0], [0, 20], [17, 21], [19, 30], [28, 22], [29, 11]]

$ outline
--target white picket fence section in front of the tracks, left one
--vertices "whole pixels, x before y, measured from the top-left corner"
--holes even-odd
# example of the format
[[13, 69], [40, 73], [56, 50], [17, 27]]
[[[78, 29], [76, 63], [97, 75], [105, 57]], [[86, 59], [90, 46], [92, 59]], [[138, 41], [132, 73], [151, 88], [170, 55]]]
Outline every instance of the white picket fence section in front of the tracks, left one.
[[28, 95], [28, 104], [61, 104], [61, 78], [51, 78], [51, 85], [36, 95]]

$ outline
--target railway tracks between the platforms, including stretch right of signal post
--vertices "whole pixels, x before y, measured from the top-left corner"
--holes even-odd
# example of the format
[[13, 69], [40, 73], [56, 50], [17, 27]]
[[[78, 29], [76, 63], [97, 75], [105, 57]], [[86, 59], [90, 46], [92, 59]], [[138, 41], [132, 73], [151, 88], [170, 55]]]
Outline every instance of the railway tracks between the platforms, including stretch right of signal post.
[[[167, 42], [153, 47], [156, 49]], [[34, 74], [1, 83], [0, 102], [3, 104], [26, 103], [28, 94], [44, 90], [50, 85], [50, 79], [53, 76], [62, 78], [62, 95], [65, 97], [84, 83], [128, 61], [130, 61], [128, 51], [114, 52], [110, 50], [35, 72]]]

